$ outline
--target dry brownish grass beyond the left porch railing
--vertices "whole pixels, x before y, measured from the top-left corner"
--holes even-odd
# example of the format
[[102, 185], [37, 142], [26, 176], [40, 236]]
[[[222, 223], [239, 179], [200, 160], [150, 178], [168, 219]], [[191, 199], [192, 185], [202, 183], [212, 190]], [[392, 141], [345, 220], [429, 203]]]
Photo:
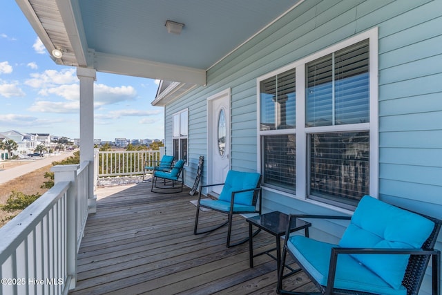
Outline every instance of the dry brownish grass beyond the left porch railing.
[[[41, 184], [46, 181], [44, 173], [50, 171], [50, 167], [52, 167], [52, 164], [10, 180], [5, 184], [0, 184], [0, 204], [6, 204], [6, 200], [8, 200], [12, 191], [21, 191], [26, 195], [35, 193], [43, 195], [48, 189], [41, 189]], [[8, 213], [0, 210], [0, 227], [9, 221], [10, 216], [17, 215], [18, 213], [19, 211]]]

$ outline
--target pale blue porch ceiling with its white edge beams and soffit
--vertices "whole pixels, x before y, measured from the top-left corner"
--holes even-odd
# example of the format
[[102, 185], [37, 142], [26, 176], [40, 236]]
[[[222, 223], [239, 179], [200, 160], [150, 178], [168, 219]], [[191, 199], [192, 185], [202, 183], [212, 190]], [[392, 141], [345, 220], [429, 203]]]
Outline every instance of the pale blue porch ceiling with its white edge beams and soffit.
[[16, 1], [49, 52], [66, 50], [58, 64], [204, 85], [208, 68], [300, 0]]

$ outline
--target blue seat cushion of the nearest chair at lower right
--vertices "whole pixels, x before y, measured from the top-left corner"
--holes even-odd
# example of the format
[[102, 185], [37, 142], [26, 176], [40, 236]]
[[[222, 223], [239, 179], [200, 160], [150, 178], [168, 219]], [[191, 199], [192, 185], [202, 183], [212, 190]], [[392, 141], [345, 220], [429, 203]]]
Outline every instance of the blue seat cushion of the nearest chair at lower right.
[[[287, 247], [320, 285], [327, 285], [330, 254], [332, 248], [339, 247], [338, 245], [305, 238], [305, 236], [291, 236], [287, 240]], [[407, 294], [405, 287], [401, 285], [393, 288], [380, 276], [347, 254], [338, 255], [334, 287], [374, 294]]]

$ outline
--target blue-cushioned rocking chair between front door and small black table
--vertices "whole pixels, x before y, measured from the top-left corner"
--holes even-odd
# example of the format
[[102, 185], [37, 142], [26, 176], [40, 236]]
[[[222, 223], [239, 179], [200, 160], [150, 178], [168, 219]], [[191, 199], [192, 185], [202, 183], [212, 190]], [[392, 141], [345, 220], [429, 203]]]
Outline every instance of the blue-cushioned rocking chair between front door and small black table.
[[[224, 185], [218, 200], [209, 198], [201, 198], [201, 190], [204, 187], [214, 187], [217, 185]], [[220, 184], [208, 184], [200, 186], [198, 193], [198, 204], [196, 208], [195, 227], [193, 234], [204, 234], [209, 231], [214, 231], [220, 227], [229, 224], [227, 230], [227, 247], [240, 245], [247, 242], [249, 238], [245, 238], [240, 242], [231, 244], [231, 227], [233, 214], [240, 213], [261, 213], [261, 175], [259, 173], [240, 172], [231, 170], [227, 173], [226, 181]], [[198, 232], [198, 217], [200, 216], [200, 207], [212, 209], [228, 215], [227, 221], [204, 231]], [[259, 229], [253, 234], [258, 234]]]

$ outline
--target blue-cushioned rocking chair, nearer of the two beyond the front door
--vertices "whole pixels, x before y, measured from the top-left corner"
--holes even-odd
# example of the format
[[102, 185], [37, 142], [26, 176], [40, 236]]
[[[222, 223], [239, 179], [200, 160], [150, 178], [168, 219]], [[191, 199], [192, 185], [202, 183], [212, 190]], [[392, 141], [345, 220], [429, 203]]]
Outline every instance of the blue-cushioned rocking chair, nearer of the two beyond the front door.
[[[185, 160], [179, 160], [173, 165], [172, 169], [170, 171], [161, 171], [158, 169], [153, 170], [152, 175], [152, 187], [151, 191], [155, 193], [171, 193], [171, 191], [167, 191], [168, 189], [173, 189], [173, 193], [180, 193], [182, 192], [183, 187], [183, 176], [182, 176], [182, 170], [184, 169], [184, 163]], [[158, 183], [158, 180], [160, 181], [160, 184]], [[180, 184], [179, 187], [176, 186], [176, 184]], [[179, 191], [177, 191], [177, 188], [180, 188]], [[162, 190], [156, 190], [153, 189], [162, 189]], [[163, 191], [166, 189], [166, 191]]]

